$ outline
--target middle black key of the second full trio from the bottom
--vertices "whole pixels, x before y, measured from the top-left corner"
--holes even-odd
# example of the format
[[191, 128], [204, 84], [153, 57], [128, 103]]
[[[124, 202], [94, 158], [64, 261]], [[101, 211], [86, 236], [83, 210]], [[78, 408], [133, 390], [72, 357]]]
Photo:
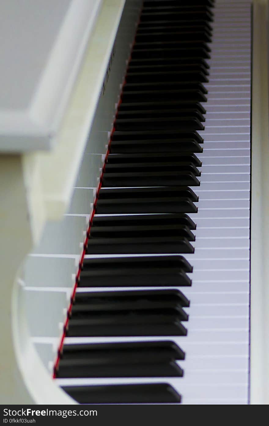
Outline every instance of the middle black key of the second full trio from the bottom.
[[93, 226], [90, 230], [90, 238], [133, 238], [154, 236], [181, 236], [188, 241], [195, 241], [195, 236], [185, 225], [150, 225], [130, 226], [120, 225], [110, 228], [108, 226]]

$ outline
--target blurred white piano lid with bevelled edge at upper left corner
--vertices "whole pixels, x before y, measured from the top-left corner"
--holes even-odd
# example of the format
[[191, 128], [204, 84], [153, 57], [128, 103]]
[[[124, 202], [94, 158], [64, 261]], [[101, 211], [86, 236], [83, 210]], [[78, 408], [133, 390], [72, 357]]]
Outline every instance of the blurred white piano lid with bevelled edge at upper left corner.
[[0, 2], [0, 151], [53, 147], [101, 5]]

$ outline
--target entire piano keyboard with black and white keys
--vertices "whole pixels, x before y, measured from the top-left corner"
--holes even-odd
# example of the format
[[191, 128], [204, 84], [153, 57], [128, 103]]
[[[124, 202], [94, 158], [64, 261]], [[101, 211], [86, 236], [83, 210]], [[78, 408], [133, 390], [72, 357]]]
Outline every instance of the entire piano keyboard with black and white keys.
[[247, 404], [251, 5], [145, 0], [55, 380]]

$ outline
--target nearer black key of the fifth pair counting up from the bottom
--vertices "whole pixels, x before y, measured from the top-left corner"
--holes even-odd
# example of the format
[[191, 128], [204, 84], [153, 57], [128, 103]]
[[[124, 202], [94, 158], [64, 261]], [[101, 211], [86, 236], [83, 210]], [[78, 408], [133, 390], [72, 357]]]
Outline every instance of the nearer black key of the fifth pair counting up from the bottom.
[[122, 102], [152, 102], [160, 99], [163, 101], [207, 101], [204, 93], [198, 89], [138, 90], [122, 93]]

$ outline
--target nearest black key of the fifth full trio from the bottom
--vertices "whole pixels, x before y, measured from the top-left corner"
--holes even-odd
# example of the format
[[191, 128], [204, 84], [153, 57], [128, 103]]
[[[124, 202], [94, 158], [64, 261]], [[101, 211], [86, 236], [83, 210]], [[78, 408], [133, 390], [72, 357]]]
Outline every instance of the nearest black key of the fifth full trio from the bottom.
[[[132, 70], [134, 67], [132, 67]], [[158, 81], [201, 81], [203, 83], [208, 83], [208, 78], [206, 74], [202, 71], [147, 71], [147, 72], [131, 72], [128, 71], [125, 77], [127, 83], [142, 83], [147, 82], [158, 82]]]

